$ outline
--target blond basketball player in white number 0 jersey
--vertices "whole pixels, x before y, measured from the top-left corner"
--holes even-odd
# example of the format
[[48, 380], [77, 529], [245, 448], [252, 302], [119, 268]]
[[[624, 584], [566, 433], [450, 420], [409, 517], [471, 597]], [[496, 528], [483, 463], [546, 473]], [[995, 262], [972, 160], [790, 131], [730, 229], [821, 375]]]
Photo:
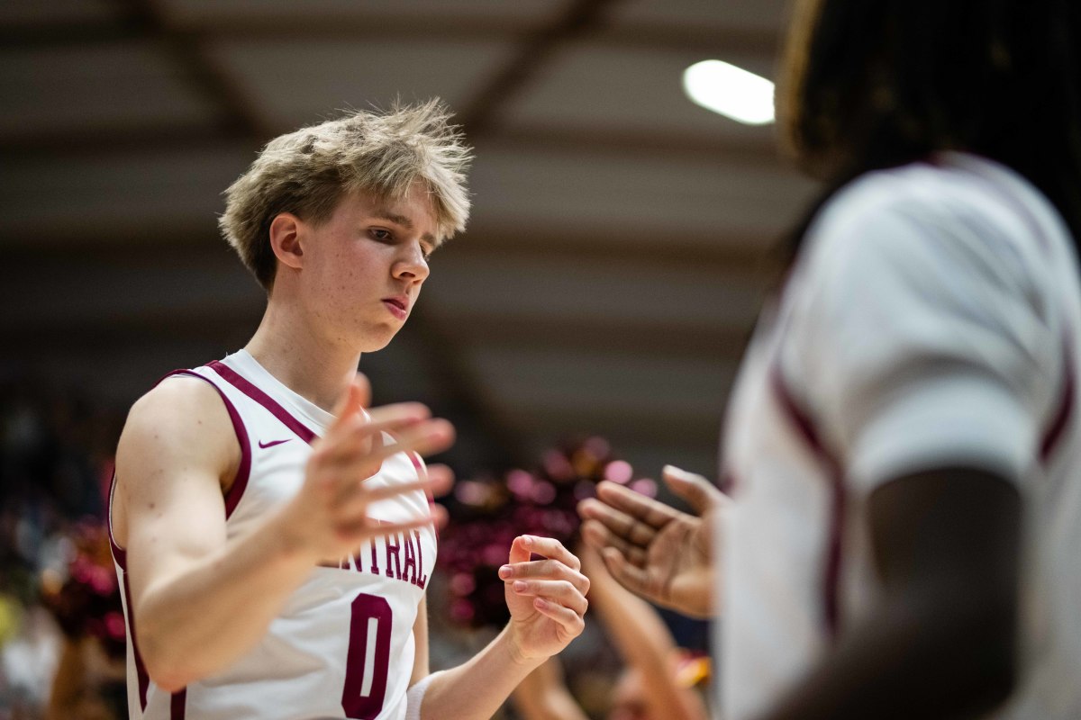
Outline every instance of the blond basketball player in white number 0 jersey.
[[263, 322], [139, 399], [117, 456], [132, 718], [488, 718], [582, 631], [577, 559], [521, 536], [506, 629], [429, 674], [426, 491], [450, 478], [417, 453], [453, 429], [415, 404], [361, 408], [361, 353], [465, 225], [468, 159], [436, 103], [357, 112], [270, 141], [227, 191]]

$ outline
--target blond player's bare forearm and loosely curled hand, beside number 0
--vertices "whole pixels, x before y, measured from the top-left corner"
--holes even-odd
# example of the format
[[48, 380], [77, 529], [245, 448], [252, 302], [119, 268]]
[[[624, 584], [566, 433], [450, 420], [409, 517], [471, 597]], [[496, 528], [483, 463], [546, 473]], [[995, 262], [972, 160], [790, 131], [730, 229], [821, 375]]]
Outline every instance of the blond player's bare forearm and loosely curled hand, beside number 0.
[[[531, 561], [531, 553], [546, 559]], [[519, 682], [580, 635], [589, 581], [579, 568], [556, 540], [516, 538], [499, 573], [510, 623], [469, 661], [432, 677], [421, 717], [491, 718]]]

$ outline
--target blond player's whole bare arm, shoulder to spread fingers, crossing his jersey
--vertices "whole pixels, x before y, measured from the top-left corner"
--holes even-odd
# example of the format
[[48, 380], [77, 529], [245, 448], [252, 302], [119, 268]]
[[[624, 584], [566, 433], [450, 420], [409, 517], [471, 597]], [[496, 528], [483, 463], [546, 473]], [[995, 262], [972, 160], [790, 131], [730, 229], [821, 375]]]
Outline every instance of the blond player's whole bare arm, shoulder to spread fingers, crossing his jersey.
[[[359, 408], [353, 386], [297, 495], [229, 541], [222, 486], [239, 447], [216, 392], [201, 380], [170, 380], [132, 409], [117, 452], [115, 529], [128, 547], [138, 649], [160, 687], [175, 691], [225, 668], [254, 647], [319, 560], [406, 527], [369, 521], [370, 502], [439, 483], [365, 489], [361, 480], [383, 458], [445, 447], [452, 433], [419, 406], [384, 408], [371, 421]], [[400, 444], [373, 445], [383, 430]]]

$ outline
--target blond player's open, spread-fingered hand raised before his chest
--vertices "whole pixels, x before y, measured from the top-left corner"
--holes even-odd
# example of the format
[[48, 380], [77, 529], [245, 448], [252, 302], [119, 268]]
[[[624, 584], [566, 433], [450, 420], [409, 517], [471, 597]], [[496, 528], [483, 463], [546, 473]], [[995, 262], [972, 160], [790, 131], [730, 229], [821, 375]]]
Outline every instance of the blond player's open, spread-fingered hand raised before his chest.
[[[439, 494], [452, 481], [449, 468], [433, 465], [426, 477], [413, 483], [366, 487], [364, 480], [375, 475], [390, 456], [402, 451], [438, 452], [454, 441], [451, 423], [432, 419], [424, 405], [389, 405], [369, 413], [362, 407], [366, 396], [366, 380], [358, 376], [335, 409], [334, 423], [313, 445], [304, 486], [282, 511], [282, 530], [291, 544], [318, 559], [335, 559], [372, 536], [435, 521], [435, 517], [423, 515], [381, 525], [368, 517], [368, 506], [415, 490]], [[384, 444], [384, 432], [392, 434], [395, 443]]]

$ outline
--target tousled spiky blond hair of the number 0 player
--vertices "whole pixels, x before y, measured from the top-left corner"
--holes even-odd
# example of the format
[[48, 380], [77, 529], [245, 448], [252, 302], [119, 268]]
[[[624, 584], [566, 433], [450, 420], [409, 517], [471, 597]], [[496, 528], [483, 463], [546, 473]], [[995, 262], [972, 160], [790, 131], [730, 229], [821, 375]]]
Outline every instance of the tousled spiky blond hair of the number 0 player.
[[346, 193], [399, 200], [419, 181], [431, 199], [438, 240], [446, 240], [469, 218], [465, 173], [472, 160], [450, 119], [432, 99], [353, 111], [276, 137], [225, 191], [222, 234], [269, 291], [277, 267], [269, 231], [279, 213], [319, 223]]

